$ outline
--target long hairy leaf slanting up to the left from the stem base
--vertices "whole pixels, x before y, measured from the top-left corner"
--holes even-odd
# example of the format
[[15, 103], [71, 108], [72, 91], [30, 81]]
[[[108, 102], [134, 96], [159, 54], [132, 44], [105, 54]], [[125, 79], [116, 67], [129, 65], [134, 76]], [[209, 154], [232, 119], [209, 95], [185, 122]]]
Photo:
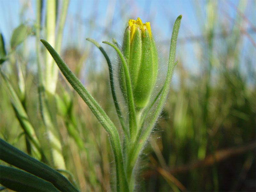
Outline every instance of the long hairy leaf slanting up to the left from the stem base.
[[112, 145], [115, 163], [116, 163], [116, 190], [126, 191], [128, 189], [128, 184], [124, 172], [123, 154], [121, 148], [121, 142], [119, 138], [118, 131], [114, 123], [107, 116], [105, 111], [100, 107], [98, 102], [92, 97], [80, 80], [72, 73], [68, 68], [67, 64], [60, 58], [58, 53], [52, 48], [52, 46], [45, 40], [41, 39], [46, 49], [51, 53], [56, 64], [60, 68], [62, 74], [66, 77], [71, 86], [76, 90], [80, 97], [91, 109], [92, 113], [99, 120], [100, 124], [105, 128], [109, 134], [110, 143]]

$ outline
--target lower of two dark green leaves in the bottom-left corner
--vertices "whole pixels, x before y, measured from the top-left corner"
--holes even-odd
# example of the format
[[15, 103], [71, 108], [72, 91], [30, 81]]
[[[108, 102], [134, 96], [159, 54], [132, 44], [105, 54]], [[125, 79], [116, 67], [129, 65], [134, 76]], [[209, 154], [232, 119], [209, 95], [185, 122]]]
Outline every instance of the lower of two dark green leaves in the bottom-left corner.
[[59, 191], [51, 183], [16, 168], [0, 165], [0, 183], [14, 191]]

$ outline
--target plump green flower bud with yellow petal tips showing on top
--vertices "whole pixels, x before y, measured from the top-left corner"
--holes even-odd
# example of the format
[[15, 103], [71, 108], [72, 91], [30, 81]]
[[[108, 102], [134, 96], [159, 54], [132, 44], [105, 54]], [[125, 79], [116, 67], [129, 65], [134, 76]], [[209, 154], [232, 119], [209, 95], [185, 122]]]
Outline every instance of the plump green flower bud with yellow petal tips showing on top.
[[[156, 45], [149, 22], [142, 23], [140, 18], [129, 20], [124, 32], [122, 52], [129, 70], [135, 107], [144, 108], [156, 84], [158, 71]], [[126, 97], [124, 69], [120, 62], [119, 84]]]

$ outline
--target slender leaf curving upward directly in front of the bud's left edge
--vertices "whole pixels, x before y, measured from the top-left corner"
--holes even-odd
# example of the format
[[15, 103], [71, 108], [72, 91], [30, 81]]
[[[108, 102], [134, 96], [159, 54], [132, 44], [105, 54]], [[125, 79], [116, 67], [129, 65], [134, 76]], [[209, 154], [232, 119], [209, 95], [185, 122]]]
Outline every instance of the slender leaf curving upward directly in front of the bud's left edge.
[[116, 45], [114, 45], [110, 42], [107, 42], [107, 41], [103, 41], [102, 43], [108, 44], [111, 47], [113, 47], [116, 50], [117, 54], [119, 55], [120, 60], [123, 64], [126, 89], [127, 89], [128, 108], [129, 108], [130, 135], [131, 135], [132, 141], [134, 141], [134, 139], [137, 135], [137, 132], [138, 132], [138, 128], [137, 128], [137, 122], [136, 122], [136, 112], [135, 112], [135, 107], [134, 107], [134, 100], [133, 100], [133, 95], [132, 95], [132, 84], [131, 84], [129, 71], [128, 71], [124, 56], [121, 53], [121, 51], [116, 47]]

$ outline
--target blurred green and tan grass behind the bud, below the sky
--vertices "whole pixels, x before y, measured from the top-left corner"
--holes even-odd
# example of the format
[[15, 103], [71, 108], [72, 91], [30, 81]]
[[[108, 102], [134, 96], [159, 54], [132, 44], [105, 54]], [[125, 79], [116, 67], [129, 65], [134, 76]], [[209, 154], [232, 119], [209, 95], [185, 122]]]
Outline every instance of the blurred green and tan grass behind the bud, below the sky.
[[[38, 15], [34, 27], [36, 39], [40, 39], [46, 29], [43, 24], [39, 27], [41, 5], [37, 5]], [[202, 36], [178, 39], [178, 48], [192, 44], [193, 50], [197, 52], [195, 61], [199, 70], [192, 73], [187, 64], [189, 58], [182, 51], [177, 52], [179, 64], [175, 69], [175, 78], [160, 119], [140, 159], [141, 166], [137, 169], [141, 182], [136, 190], [255, 190], [255, 39], [250, 40], [255, 36], [255, 26], [248, 24], [249, 31], [243, 28], [246, 18], [244, 1], [237, 7], [235, 20], [229, 20], [228, 29], [222, 18], [216, 12], [212, 13], [217, 9], [216, 6], [218, 2], [209, 1], [206, 17], [198, 16], [202, 23], [201, 31], [204, 31]], [[202, 12], [200, 6], [195, 7], [198, 13]], [[57, 18], [60, 17], [57, 15]], [[88, 30], [93, 32], [96, 30], [94, 27], [92, 25]], [[29, 30], [29, 36], [33, 35], [34, 31], [30, 33]], [[61, 31], [60, 27], [59, 34], [62, 34]], [[105, 35], [111, 39], [113, 32], [106, 31], [108, 33]], [[60, 42], [61, 35], [57, 33], [55, 38], [56, 42]], [[85, 43], [85, 39], [83, 41]], [[43, 71], [46, 69], [44, 58], [47, 56], [39, 43], [36, 41], [33, 58], [28, 57], [26, 52], [30, 46], [27, 36], [21, 44], [15, 45], [15, 49], [5, 48], [7, 53], [12, 53], [1, 64], [1, 138], [37, 159], [42, 158], [42, 153], [38, 151], [43, 151], [45, 159], [48, 159], [45, 162], [64, 173], [81, 191], [110, 191], [111, 185], [114, 185], [112, 182], [115, 182], [111, 179], [115, 176], [115, 169], [108, 136], [60, 74], [56, 91], [40, 95], [45, 75]], [[78, 45], [65, 51], [60, 51], [61, 46], [57, 45], [57, 52], [62, 53], [62, 58], [71, 70], [90, 90], [110, 119], [118, 124], [107, 63], [103, 56], [93, 60], [92, 54], [99, 50], [87, 44], [85, 50]], [[158, 44], [161, 47], [165, 42]], [[250, 47], [247, 48], [250, 52], [242, 57], [245, 45]], [[106, 50], [109, 51], [107, 47]], [[98, 62], [100, 70], [97, 68]], [[37, 70], [32, 70], [30, 63], [37, 63]], [[116, 68], [114, 80], [117, 78], [115, 72]], [[4, 85], [4, 76], [8, 77], [17, 97], [10, 97], [8, 87]], [[54, 81], [50, 80], [49, 83]], [[39, 98], [46, 98], [46, 104], [50, 106], [44, 113], [50, 111], [53, 114], [49, 115], [48, 123], [54, 124], [52, 132], [56, 138], [51, 137], [49, 129], [46, 129], [47, 118], [40, 115], [44, 103]], [[125, 106], [124, 102], [119, 104]], [[24, 114], [15, 111], [17, 106], [23, 108]], [[125, 107], [124, 110], [128, 111]], [[20, 116], [25, 116], [28, 124], [22, 125]], [[122, 129], [118, 131], [121, 133]], [[36, 136], [40, 146], [35, 145], [37, 141], [29, 139], [29, 134], [33, 136], [31, 138]], [[54, 143], [54, 138], [57, 143]], [[53, 153], [53, 149], [56, 153]], [[3, 161], [1, 164], [6, 165]]]

